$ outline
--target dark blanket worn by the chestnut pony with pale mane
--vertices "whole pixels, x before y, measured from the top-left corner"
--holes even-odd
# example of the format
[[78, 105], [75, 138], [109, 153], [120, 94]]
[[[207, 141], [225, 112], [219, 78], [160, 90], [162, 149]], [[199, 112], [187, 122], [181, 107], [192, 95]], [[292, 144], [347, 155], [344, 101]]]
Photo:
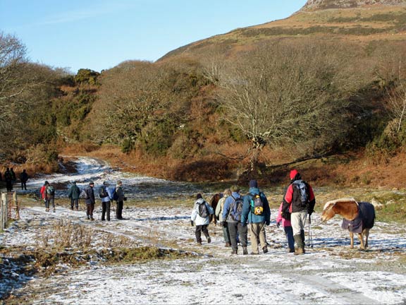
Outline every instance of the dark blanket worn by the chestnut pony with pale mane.
[[362, 233], [363, 229], [371, 229], [375, 222], [374, 205], [367, 202], [358, 203], [358, 215], [354, 220], [343, 219], [342, 229], [348, 229], [352, 233]]

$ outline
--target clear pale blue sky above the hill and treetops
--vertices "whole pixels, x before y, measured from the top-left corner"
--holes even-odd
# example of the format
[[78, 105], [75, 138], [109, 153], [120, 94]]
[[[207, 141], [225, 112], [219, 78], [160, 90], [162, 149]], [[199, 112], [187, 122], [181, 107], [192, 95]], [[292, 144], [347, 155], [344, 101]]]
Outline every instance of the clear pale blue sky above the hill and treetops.
[[156, 61], [213, 35], [287, 18], [306, 0], [0, 0], [0, 31], [31, 61], [94, 71]]

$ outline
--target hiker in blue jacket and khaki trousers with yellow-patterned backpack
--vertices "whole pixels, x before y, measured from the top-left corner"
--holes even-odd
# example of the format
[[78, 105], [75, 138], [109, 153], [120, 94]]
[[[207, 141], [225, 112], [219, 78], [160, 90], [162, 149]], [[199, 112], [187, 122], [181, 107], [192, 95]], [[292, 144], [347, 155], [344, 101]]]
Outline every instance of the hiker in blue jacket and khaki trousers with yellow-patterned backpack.
[[269, 210], [268, 199], [258, 189], [257, 180], [251, 180], [249, 186], [250, 190], [244, 196], [244, 203], [242, 204], [241, 223], [243, 226], [246, 226], [248, 222], [252, 247], [251, 254], [259, 254], [259, 244], [262, 251], [267, 253], [265, 225], [270, 224], [271, 210]]

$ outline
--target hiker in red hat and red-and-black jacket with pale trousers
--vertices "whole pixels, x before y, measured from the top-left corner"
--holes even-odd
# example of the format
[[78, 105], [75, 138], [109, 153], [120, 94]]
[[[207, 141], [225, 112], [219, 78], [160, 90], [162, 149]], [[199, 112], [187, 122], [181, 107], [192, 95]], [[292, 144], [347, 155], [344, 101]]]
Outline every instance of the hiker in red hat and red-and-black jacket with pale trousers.
[[302, 180], [296, 169], [290, 171], [290, 184], [283, 196], [282, 217], [288, 219], [293, 229], [293, 239], [297, 248], [295, 255], [305, 254], [305, 222], [312, 215], [316, 199], [312, 186]]

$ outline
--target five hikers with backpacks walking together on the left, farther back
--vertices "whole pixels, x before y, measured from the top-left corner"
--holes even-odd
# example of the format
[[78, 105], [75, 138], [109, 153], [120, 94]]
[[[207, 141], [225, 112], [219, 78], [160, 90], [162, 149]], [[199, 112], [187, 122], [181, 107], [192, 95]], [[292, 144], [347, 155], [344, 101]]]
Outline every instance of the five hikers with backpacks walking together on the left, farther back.
[[[52, 205], [55, 212], [55, 188], [48, 181], [39, 190], [41, 197], [45, 203], [45, 210], [49, 212], [50, 205]], [[101, 199], [101, 220], [110, 221], [110, 210], [113, 201], [116, 201], [116, 219], [123, 220], [123, 205], [127, 198], [123, 191], [123, 182], [118, 180], [116, 186], [110, 186], [108, 181], [104, 181], [103, 185], [99, 188], [99, 198]], [[86, 203], [86, 217], [87, 220], [94, 220], [93, 211], [96, 204], [97, 195], [94, 194], [94, 182], [91, 181], [85, 189], [80, 190], [76, 181], [73, 181], [68, 190], [68, 198], [70, 198], [70, 210], [79, 210], [79, 199], [85, 199]]]

